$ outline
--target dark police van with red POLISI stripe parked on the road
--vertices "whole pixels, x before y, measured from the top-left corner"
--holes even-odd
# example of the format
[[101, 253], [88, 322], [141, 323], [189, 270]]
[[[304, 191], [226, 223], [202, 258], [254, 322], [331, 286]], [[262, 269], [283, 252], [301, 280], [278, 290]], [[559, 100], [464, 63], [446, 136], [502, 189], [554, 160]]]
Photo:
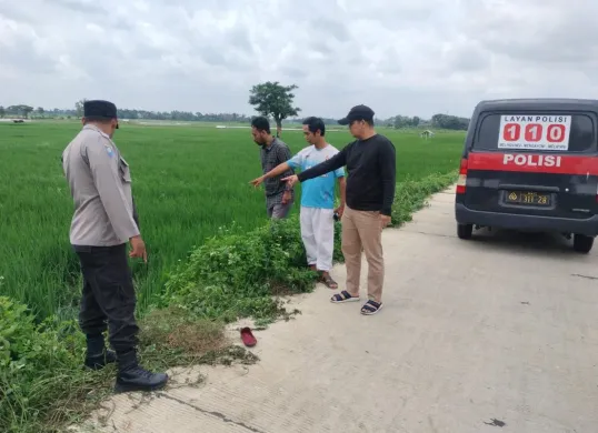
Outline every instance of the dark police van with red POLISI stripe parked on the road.
[[598, 234], [598, 100], [509, 99], [476, 105], [461, 157], [457, 234], [556, 232], [587, 253]]

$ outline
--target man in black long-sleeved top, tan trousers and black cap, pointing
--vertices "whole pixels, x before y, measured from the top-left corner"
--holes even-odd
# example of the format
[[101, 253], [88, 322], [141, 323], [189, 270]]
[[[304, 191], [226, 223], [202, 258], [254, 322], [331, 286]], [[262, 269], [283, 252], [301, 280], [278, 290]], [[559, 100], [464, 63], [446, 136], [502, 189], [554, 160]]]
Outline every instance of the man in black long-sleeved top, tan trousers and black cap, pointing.
[[335, 294], [331, 302], [359, 301], [361, 249], [368, 260], [368, 302], [362, 314], [376, 314], [382, 308], [385, 262], [382, 229], [390, 223], [395, 200], [395, 145], [373, 129], [373, 111], [356, 105], [340, 124], [348, 124], [357, 140], [335, 157], [299, 174], [283, 178], [290, 187], [296, 182], [326, 174], [347, 165], [346, 210], [342, 212], [342, 254], [347, 266], [347, 289]]

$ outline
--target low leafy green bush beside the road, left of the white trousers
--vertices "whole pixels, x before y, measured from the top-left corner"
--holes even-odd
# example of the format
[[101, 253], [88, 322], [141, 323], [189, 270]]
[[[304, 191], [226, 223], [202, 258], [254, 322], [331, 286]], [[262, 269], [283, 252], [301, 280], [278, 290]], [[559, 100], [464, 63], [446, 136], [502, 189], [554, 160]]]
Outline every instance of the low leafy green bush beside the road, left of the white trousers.
[[[338, 262], [340, 223], [335, 231]], [[250, 316], [263, 325], [292, 314], [272, 296], [309, 292], [317, 278], [307, 266], [299, 219], [291, 215], [245, 234], [220, 230], [170, 275], [161, 304], [226, 323]]]

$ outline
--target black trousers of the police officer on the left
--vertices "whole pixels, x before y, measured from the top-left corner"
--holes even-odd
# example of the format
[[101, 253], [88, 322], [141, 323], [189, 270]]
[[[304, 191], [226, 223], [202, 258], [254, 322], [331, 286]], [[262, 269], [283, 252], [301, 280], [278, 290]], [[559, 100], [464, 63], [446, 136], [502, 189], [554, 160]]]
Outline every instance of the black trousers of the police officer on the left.
[[83, 274], [79, 324], [88, 339], [108, 329], [117, 352], [134, 350], [139, 328], [134, 319], [136, 294], [128, 263], [127, 244], [116, 246], [74, 246]]

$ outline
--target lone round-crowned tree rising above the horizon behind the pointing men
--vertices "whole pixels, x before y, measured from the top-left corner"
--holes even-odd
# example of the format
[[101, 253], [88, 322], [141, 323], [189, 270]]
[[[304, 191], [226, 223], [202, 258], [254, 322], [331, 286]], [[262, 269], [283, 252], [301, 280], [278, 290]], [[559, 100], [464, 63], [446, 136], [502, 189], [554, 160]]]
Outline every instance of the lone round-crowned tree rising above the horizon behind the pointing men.
[[276, 122], [276, 137], [280, 137], [282, 120], [298, 115], [301, 109], [292, 107], [296, 84], [281, 85], [278, 81], [267, 81], [251, 88], [249, 103], [261, 115], [272, 117]]

